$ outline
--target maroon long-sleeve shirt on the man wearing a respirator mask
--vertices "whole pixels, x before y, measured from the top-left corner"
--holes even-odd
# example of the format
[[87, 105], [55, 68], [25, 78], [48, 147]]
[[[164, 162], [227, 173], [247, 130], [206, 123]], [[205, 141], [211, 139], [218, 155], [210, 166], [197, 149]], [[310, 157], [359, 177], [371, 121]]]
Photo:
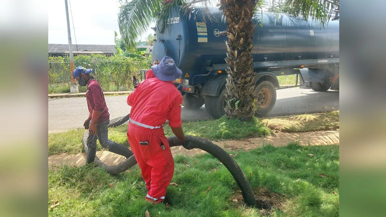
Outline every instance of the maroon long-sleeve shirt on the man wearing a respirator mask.
[[90, 114], [93, 114], [93, 110], [102, 112], [99, 116], [98, 123], [110, 120], [105, 96], [103, 95], [102, 87], [99, 85], [98, 81], [92, 79], [87, 85], [86, 99]]

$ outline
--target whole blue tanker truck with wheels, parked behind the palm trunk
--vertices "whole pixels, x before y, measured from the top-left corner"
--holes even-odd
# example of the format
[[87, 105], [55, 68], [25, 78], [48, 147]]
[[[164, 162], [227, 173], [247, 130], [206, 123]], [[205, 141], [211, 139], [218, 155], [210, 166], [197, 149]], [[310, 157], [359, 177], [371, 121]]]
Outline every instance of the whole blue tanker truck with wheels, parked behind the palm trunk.
[[[211, 11], [204, 19], [200, 8], [185, 13], [176, 7], [166, 28], [153, 28], [152, 59], [169, 56], [176, 61], [183, 74], [174, 83], [183, 94], [184, 107], [198, 109], [205, 104], [207, 112], [219, 118], [225, 114], [227, 91], [227, 24], [222, 10]], [[289, 87], [339, 89], [339, 19], [333, 17], [323, 27], [311, 19], [257, 12], [252, 25], [256, 115], [269, 113], [276, 90], [288, 88], [281, 87], [276, 76], [296, 75], [296, 85]]]

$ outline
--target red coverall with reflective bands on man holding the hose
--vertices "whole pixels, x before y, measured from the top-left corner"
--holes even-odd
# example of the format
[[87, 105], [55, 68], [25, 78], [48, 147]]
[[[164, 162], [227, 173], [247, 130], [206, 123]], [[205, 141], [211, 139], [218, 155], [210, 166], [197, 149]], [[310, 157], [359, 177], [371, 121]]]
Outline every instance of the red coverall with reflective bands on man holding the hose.
[[171, 81], [150, 78], [139, 83], [127, 98], [127, 104], [132, 106], [127, 139], [146, 183], [145, 198], [161, 202], [174, 173], [174, 160], [163, 125], [168, 119], [170, 127], [182, 126], [181, 93]]

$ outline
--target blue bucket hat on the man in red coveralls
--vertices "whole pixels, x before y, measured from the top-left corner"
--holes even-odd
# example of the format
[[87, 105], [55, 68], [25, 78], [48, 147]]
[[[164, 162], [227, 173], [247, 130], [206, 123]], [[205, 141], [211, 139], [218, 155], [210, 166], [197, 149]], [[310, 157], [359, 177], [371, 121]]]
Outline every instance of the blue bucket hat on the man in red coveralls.
[[151, 67], [154, 75], [161, 81], [174, 81], [182, 75], [173, 58], [164, 56], [158, 65]]

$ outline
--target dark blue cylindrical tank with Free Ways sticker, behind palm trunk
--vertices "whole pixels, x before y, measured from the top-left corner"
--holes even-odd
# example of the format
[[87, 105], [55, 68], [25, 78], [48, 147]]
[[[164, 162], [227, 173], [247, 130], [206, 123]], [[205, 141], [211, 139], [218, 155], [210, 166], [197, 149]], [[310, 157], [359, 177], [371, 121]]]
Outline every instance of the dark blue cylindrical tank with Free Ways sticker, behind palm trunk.
[[[190, 77], [203, 73], [208, 58], [210, 65], [225, 64], [227, 36], [219, 32], [226, 31], [227, 24], [222, 11], [210, 10], [211, 17], [203, 20], [200, 8], [188, 14], [176, 8], [165, 31], [156, 27], [152, 58], [170, 56]], [[330, 20], [322, 27], [311, 19], [257, 12], [252, 24], [256, 24], [254, 62], [339, 58], [339, 20]]]

